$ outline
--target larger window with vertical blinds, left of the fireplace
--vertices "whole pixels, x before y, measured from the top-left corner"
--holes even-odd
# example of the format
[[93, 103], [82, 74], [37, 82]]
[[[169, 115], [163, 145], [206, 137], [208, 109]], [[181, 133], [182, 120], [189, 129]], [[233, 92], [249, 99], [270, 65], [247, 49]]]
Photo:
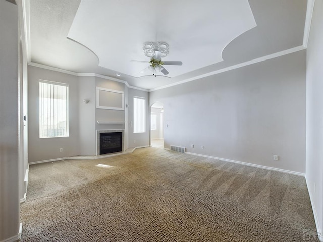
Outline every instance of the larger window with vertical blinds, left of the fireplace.
[[39, 81], [39, 138], [67, 137], [68, 84]]

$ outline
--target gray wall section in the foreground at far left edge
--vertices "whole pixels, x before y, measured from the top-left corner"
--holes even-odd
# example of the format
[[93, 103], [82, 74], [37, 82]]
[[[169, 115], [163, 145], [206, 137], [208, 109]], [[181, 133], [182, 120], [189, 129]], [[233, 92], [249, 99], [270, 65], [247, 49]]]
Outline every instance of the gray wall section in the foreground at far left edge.
[[20, 226], [18, 137], [18, 9], [0, 1], [0, 241]]

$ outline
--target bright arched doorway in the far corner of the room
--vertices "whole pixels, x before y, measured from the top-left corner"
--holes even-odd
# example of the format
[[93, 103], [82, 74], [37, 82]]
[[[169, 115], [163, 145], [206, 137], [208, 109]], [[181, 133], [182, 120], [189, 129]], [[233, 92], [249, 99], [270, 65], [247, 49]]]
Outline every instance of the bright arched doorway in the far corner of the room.
[[150, 107], [150, 144], [152, 147], [164, 148], [164, 105], [155, 102]]

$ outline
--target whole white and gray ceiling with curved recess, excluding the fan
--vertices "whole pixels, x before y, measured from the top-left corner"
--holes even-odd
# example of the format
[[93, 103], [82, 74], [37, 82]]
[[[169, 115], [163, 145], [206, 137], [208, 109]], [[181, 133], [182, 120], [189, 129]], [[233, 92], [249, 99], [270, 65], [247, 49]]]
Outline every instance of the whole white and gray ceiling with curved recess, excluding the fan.
[[[302, 45], [305, 0], [30, 0], [31, 61], [153, 89]], [[165, 41], [164, 76], [140, 77]], [[117, 77], [116, 73], [121, 76]]]

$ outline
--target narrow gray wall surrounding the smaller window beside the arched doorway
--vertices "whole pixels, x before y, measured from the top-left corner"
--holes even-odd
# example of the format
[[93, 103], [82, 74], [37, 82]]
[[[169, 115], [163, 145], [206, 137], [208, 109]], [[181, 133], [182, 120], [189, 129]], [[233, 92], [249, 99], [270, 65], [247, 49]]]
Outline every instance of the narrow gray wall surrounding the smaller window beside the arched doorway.
[[[133, 133], [133, 97], [144, 97], [146, 98], [146, 132], [145, 133]], [[144, 92], [137, 89], [129, 88], [129, 95], [128, 95], [128, 102], [129, 102], [129, 122], [128, 122], [128, 129], [129, 129], [129, 147], [140, 147], [140, 146], [148, 146], [149, 145], [149, 93]]]

